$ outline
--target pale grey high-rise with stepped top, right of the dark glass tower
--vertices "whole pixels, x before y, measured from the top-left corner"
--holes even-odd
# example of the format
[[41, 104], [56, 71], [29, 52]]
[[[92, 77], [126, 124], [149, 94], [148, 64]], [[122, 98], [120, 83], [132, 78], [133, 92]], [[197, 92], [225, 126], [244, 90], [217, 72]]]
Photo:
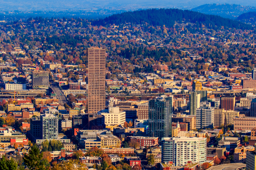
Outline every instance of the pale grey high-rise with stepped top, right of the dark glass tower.
[[214, 127], [214, 107], [207, 101], [200, 103], [200, 108], [196, 109], [196, 128]]

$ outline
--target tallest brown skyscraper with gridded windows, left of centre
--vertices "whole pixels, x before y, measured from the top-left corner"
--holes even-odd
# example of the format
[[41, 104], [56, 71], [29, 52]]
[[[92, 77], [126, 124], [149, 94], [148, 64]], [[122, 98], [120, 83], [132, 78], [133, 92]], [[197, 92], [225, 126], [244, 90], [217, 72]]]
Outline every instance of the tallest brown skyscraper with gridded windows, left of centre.
[[104, 48], [86, 48], [87, 113], [98, 113], [105, 108], [105, 54]]

